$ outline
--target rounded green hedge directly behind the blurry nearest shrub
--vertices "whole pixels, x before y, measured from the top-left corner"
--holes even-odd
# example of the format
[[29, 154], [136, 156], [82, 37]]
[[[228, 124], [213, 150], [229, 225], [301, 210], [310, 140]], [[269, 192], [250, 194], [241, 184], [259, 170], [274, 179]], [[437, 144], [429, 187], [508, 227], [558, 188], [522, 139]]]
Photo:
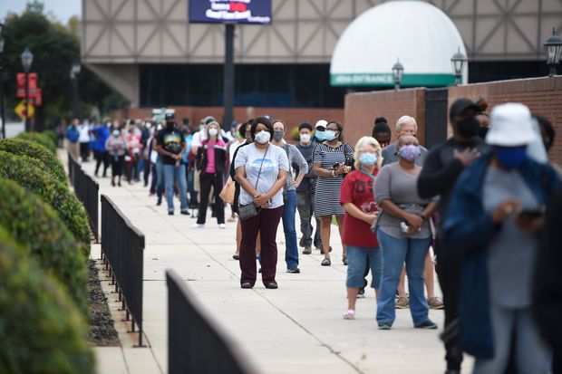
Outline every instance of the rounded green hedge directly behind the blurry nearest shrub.
[[14, 181], [0, 178], [0, 226], [26, 245], [38, 264], [67, 287], [87, 315], [87, 259], [51, 206]]

